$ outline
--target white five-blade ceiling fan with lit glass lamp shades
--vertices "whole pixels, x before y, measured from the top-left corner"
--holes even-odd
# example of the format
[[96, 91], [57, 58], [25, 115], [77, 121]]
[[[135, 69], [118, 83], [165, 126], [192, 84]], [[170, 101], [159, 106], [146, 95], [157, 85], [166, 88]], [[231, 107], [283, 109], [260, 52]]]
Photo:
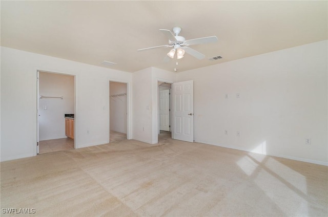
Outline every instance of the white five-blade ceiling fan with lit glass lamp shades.
[[168, 53], [168, 56], [170, 58], [174, 58], [175, 53], [177, 53], [177, 59], [181, 59], [183, 55], [185, 55], [185, 52], [192, 55], [193, 57], [197, 59], [203, 59], [205, 57], [204, 54], [199, 53], [198, 51], [189, 48], [190, 45], [199, 45], [199, 44], [206, 44], [211, 42], [216, 42], [217, 37], [216, 36], [210, 36], [210, 37], [203, 37], [203, 38], [195, 38], [186, 40], [185, 37], [179, 36], [179, 33], [181, 32], [181, 27], [173, 27], [171, 32], [167, 29], [160, 29], [163, 34], [165, 34], [169, 38], [169, 44], [168, 45], [160, 45], [150, 48], [143, 48], [139, 49], [137, 51], [144, 51], [149, 49], [155, 49], [155, 48], [169, 48], [172, 47], [170, 52]]

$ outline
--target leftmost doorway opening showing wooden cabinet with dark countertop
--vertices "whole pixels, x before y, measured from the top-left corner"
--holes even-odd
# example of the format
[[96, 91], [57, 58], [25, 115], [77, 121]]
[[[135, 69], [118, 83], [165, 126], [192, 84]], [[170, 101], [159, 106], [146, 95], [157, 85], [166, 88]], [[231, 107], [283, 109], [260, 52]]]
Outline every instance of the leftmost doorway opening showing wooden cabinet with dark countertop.
[[75, 76], [37, 71], [37, 154], [75, 148]]

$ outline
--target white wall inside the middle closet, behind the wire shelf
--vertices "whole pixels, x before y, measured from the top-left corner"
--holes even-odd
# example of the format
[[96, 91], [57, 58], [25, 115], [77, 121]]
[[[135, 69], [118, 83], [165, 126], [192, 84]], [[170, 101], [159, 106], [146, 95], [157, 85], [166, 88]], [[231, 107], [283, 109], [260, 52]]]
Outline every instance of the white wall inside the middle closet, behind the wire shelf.
[[[127, 84], [110, 82], [110, 95], [126, 94]], [[127, 133], [127, 96], [110, 97], [110, 129], [119, 133]]]

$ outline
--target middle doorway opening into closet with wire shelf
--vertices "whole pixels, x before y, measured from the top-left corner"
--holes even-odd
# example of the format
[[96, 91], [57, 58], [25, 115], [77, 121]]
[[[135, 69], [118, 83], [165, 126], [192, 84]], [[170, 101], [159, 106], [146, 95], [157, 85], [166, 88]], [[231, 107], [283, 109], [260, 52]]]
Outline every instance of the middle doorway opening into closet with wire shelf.
[[127, 139], [128, 128], [128, 84], [109, 82], [109, 129], [110, 142]]

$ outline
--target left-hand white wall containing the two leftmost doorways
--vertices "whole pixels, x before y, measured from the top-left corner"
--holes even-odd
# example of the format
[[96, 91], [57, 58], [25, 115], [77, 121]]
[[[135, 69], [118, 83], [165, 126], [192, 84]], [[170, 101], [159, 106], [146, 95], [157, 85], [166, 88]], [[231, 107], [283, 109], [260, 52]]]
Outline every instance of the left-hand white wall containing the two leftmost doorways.
[[1, 161], [36, 155], [37, 70], [76, 76], [75, 147], [109, 142], [109, 81], [131, 73], [1, 47]]

